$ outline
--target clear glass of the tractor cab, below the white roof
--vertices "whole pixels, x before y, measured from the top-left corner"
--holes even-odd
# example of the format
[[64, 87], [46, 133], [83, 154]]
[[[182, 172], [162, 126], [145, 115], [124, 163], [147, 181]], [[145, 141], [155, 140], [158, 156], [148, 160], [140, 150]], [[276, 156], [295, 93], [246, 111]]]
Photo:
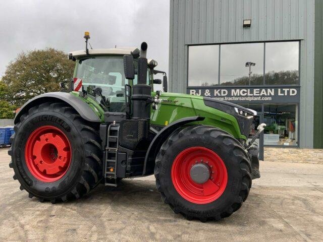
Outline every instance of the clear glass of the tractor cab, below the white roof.
[[[135, 60], [135, 69], [138, 63]], [[149, 69], [148, 69], [149, 70]], [[125, 110], [125, 85], [137, 84], [137, 75], [132, 81], [125, 79], [123, 56], [102, 56], [81, 59], [78, 61], [76, 78], [82, 79], [84, 90], [92, 94], [96, 87], [102, 88], [102, 95], [110, 103], [109, 111], [123, 112]], [[149, 85], [149, 71], [147, 84]], [[96, 97], [97, 101], [101, 101]]]

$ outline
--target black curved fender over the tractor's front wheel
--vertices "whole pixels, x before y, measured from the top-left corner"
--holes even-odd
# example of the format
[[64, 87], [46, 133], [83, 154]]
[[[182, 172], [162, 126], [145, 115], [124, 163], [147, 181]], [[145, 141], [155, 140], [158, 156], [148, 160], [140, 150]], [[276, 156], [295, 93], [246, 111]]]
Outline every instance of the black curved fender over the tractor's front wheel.
[[176, 120], [168, 126], [161, 129], [156, 136], [152, 139], [144, 161], [142, 175], [149, 175], [153, 173], [155, 166], [155, 157], [159, 152], [161, 145], [167, 140], [167, 138], [172, 134], [177, 128], [188, 123], [204, 120], [204, 117], [194, 116], [194, 117], [184, 117]]

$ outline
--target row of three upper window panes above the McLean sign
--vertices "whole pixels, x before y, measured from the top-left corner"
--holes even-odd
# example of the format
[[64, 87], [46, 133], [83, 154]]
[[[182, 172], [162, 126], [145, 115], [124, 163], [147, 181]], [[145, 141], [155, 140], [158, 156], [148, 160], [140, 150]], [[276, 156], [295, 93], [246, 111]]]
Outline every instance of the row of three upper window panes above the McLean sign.
[[188, 86], [296, 85], [299, 41], [189, 46], [188, 66]]

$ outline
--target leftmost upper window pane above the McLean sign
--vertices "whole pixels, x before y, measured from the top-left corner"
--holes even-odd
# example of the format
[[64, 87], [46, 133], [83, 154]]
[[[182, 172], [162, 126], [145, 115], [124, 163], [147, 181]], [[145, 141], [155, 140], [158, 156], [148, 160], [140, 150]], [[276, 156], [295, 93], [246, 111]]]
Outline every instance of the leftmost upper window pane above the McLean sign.
[[189, 46], [188, 85], [219, 84], [219, 45]]

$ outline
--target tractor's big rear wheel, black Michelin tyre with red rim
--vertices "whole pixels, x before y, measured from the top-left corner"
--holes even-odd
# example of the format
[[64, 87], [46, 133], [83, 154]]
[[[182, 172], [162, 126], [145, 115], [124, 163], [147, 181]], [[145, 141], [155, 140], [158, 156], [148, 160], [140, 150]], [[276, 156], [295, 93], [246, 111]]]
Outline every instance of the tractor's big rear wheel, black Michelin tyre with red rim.
[[[50, 102], [33, 106], [21, 115], [14, 130], [9, 166], [30, 198], [66, 202], [99, 184], [102, 151], [98, 125], [84, 120], [71, 106]], [[48, 136], [50, 146], [45, 143]], [[64, 162], [58, 163], [59, 159]]]

